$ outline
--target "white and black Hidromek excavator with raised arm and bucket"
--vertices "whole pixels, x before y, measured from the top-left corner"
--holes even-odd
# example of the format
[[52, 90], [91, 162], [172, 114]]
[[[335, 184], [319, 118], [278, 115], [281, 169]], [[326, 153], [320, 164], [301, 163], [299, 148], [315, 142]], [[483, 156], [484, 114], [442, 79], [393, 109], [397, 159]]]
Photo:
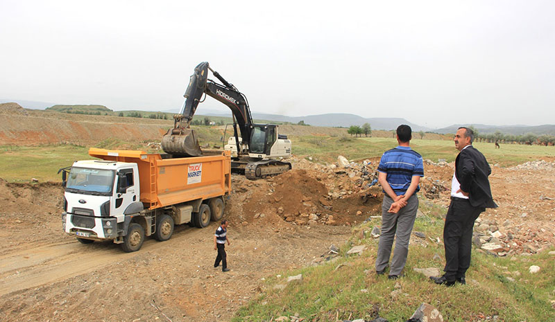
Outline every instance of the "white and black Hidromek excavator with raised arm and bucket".
[[[222, 84], [208, 78], [209, 70]], [[246, 96], [212, 70], [208, 62], [201, 62], [195, 67], [183, 96], [185, 102], [180, 114], [173, 116], [173, 129], [162, 137], [164, 152], [180, 157], [203, 155], [198, 136], [190, 123], [198, 103], [210, 96], [232, 111], [233, 136], [230, 136], [224, 149], [232, 152], [233, 172], [256, 180], [291, 170], [291, 163], [273, 159], [291, 156], [291, 141], [287, 136], [278, 134], [278, 125], [254, 124]]]

